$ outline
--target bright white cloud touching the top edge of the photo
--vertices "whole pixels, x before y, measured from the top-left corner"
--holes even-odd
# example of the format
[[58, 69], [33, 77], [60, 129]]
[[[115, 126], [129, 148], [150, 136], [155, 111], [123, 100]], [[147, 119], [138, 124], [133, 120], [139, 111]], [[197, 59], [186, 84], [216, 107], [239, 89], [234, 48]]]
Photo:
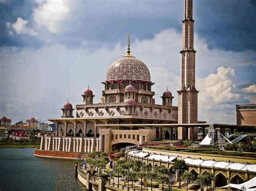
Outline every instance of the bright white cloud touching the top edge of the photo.
[[39, 27], [43, 26], [50, 32], [57, 33], [70, 11], [70, 5], [71, 1], [65, 0], [37, 1], [37, 7], [33, 10], [33, 19]]

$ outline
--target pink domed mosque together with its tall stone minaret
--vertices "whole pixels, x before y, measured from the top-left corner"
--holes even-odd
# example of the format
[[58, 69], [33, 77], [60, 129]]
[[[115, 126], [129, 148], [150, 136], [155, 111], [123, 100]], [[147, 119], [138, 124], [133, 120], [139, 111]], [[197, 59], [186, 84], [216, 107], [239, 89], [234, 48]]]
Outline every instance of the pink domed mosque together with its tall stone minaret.
[[192, 1], [185, 1], [178, 107], [172, 105], [174, 97], [168, 89], [161, 96], [162, 104], [155, 103], [150, 70], [131, 54], [129, 37], [126, 54], [107, 70], [100, 103], [93, 102], [95, 95], [89, 87], [82, 94], [82, 103], [76, 107], [65, 103], [62, 116], [49, 119], [56, 124], [55, 136], [43, 137], [40, 150], [89, 153], [161, 139], [195, 140], [198, 127], [204, 136], [204, 129], [212, 124], [198, 121], [192, 8]]

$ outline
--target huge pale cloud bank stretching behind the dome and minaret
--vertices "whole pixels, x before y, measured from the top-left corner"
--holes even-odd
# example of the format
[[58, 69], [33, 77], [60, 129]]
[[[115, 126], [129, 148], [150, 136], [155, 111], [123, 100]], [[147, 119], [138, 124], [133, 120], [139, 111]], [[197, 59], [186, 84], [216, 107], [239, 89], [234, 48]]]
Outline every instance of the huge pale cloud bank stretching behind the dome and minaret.
[[[235, 123], [235, 103], [250, 102], [250, 94], [238, 88], [233, 66], [255, 65], [250, 52], [226, 52], [208, 49], [204, 39], [196, 36], [197, 84], [199, 120]], [[135, 40], [131, 54], [144, 61], [156, 82], [156, 103], [169, 86], [177, 105], [180, 88], [181, 34], [165, 30], [151, 40]], [[0, 116], [18, 121], [21, 118], [46, 119], [59, 117], [60, 108], [69, 97], [70, 102], [82, 103], [87, 85], [100, 102], [107, 68], [126, 52], [126, 45], [95, 50], [86, 47], [68, 48], [63, 45], [39, 49], [4, 48], [0, 50]], [[246, 64], [245, 64], [246, 63]], [[232, 66], [227, 66], [232, 65]], [[203, 68], [203, 69], [202, 69]], [[253, 71], [252, 71], [253, 72]], [[24, 112], [24, 109], [26, 112]]]

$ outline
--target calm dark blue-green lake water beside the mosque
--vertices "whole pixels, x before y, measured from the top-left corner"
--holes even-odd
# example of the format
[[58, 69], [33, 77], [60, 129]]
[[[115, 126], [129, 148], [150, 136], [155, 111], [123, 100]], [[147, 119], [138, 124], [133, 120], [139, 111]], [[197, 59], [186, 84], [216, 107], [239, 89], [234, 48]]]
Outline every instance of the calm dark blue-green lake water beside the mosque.
[[86, 190], [75, 162], [35, 157], [35, 148], [0, 148], [0, 190]]

